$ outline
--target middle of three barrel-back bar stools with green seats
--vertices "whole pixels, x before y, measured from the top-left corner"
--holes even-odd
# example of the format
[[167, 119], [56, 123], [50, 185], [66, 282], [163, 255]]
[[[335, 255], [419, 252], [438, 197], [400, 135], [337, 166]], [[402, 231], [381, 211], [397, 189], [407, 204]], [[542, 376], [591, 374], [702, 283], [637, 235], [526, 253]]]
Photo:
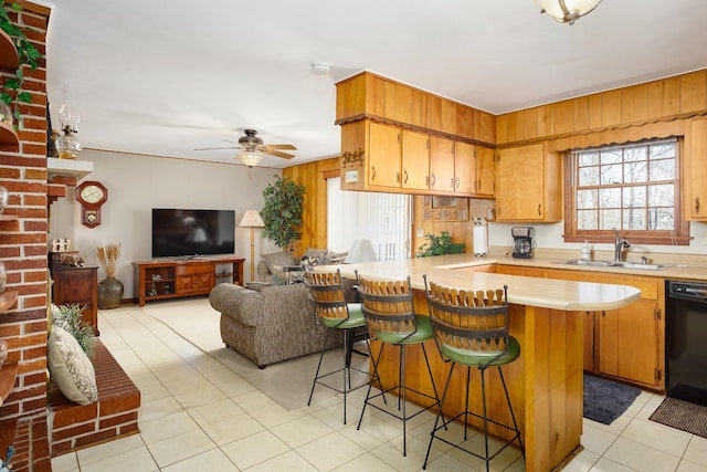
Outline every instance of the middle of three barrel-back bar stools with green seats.
[[[410, 285], [410, 277], [404, 281], [398, 282], [377, 282], [372, 280], [359, 276], [358, 273], [358, 293], [361, 297], [361, 310], [368, 324], [368, 332], [371, 339], [380, 339], [383, 344], [390, 344], [399, 347], [399, 371], [398, 371], [398, 385], [388, 389], [382, 389], [380, 394], [371, 396], [371, 387], [368, 387], [368, 394], [366, 395], [366, 401], [363, 402], [363, 410], [361, 411], [361, 418], [358, 421], [358, 429], [361, 427], [363, 420], [363, 413], [366, 407], [371, 406], [380, 411], [383, 411], [392, 417], [402, 420], [402, 454], [407, 455], [407, 422], [409, 419], [429, 410], [433, 407], [440, 407], [440, 397], [437, 395], [436, 387], [434, 386], [434, 377], [432, 376], [432, 369], [430, 368], [430, 360], [428, 359], [428, 352], [424, 348], [424, 342], [432, 339], [432, 325], [430, 318], [424, 315], [415, 314], [412, 302], [412, 287]], [[424, 354], [424, 361], [428, 366], [428, 373], [430, 374], [430, 381], [432, 382], [432, 389], [434, 397], [412, 389], [405, 384], [405, 346], [419, 344]], [[380, 363], [381, 355], [383, 353], [383, 346], [381, 346], [378, 357], [374, 359], [373, 365], [376, 371]], [[389, 409], [381, 408], [372, 402], [373, 399], [381, 397], [386, 401], [386, 394], [397, 390], [398, 392], [398, 410], [402, 410], [401, 413], [390, 411]], [[432, 400], [426, 407], [422, 407], [419, 411], [408, 415], [407, 411], [407, 396], [408, 391], [412, 391], [422, 397], [426, 397]]]

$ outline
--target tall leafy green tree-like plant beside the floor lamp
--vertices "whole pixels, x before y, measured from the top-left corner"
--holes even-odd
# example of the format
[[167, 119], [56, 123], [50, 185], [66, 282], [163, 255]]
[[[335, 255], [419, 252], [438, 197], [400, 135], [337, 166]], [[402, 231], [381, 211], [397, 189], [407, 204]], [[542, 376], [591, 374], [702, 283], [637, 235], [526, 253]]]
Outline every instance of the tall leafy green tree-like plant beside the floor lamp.
[[275, 241], [283, 251], [293, 251], [293, 241], [300, 237], [305, 187], [287, 178], [275, 176], [275, 181], [263, 190], [265, 207], [261, 217], [265, 223], [263, 235]]

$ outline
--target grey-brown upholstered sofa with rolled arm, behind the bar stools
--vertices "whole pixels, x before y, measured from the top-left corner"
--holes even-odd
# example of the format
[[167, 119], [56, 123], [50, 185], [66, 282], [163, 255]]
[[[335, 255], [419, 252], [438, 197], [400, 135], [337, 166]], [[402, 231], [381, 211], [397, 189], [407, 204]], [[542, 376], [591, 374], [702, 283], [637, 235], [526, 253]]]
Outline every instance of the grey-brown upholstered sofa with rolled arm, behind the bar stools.
[[220, 284], [211, 306], [221, 312], [221, 339], [260, 368], [340, 346], [341, 332], [320, 326], [303, 283], [255, 290]]

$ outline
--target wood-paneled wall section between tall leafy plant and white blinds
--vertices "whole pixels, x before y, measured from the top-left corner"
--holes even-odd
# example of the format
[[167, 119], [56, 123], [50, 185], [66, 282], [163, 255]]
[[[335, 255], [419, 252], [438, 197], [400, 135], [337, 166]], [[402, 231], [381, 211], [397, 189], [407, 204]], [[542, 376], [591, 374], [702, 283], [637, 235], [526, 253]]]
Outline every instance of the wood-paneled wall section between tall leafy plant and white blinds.
[[304, 185], [305, 211], [302, 239], [295, 243], [295, 256], [302, 256], [307, 248], [327, 247], [327, 180], [326, 176], [339, 172], [339, 158], [316, 160], [283, 169], [283, 178]]

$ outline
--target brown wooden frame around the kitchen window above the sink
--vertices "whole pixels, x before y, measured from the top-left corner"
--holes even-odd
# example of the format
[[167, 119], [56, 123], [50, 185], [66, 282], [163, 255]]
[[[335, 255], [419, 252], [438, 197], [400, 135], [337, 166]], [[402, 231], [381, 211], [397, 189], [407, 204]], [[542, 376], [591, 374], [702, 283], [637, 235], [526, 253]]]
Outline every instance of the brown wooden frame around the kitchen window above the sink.
[[[683, 149], [684, 139], [680, 136], [672, 136], [676, 139], [675, 156], [675, 230], [623, 230], [620, 229], [622, 238], [626, 238], [632, 244], [665, 244], [665, 245], [689, 245], [689, 222], [683, 216], [682, 207], [682, 168], [683, 168]], [[576, 148], [563, 153], [563, 185], [564, 189], [564, 242], [614, 242], [615, 232], [613, 230], [578, 230], [577, 229], [577, 189], [574, 187], [574, 175], [577, 172], [576, 159], [573, 154], [589, 149], [611, 149], [625, 148], [642, 144], [652, 144], [665, 141], [667, 138], [659, 139], [642, 139], [639, 141], [629, 141], [621, 144], [612, 144], [604, 146], [589, 146], [587, 148]]]

